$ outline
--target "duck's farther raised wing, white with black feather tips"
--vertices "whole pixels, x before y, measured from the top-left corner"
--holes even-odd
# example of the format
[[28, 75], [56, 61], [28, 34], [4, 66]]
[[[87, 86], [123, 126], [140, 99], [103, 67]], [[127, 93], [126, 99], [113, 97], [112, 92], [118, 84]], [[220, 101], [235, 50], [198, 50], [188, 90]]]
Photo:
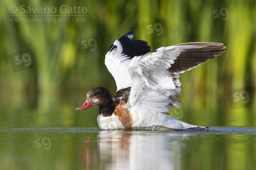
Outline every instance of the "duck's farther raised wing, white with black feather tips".
[[131, 59], [134, 56], [141, 56], [150, 52], [150, 46], [146, 41], [131, 40], [133, 34], [134, 30], [115, 40], [105, 56], [105, 65], [115, 79], [117, 90], [131, 86], [131, 78], [128, 73]]

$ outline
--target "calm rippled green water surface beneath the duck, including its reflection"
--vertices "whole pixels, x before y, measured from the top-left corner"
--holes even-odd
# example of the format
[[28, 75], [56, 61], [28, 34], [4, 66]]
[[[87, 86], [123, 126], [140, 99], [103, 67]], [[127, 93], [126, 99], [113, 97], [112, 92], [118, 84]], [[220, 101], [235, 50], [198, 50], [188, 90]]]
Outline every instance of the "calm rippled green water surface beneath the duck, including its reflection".
[[[152, 130], [153, 129], [153, 130]], [[256, 129], [0, 129], [1, 169], [255, 169]]]

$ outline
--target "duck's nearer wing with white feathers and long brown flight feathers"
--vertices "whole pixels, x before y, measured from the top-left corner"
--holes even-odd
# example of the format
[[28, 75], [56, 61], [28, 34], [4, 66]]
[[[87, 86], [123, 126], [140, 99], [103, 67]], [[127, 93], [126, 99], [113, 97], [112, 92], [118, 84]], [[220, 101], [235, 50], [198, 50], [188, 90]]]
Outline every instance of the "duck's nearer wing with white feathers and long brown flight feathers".
[[160, 47], [142, 56], [133, 57], [129, 64], [132, 81], [128, 105], [167, 112], [170, 104], [181, 107], [179, 73], [197, 67], [225, 52], [222, 43], [185, 43]]

